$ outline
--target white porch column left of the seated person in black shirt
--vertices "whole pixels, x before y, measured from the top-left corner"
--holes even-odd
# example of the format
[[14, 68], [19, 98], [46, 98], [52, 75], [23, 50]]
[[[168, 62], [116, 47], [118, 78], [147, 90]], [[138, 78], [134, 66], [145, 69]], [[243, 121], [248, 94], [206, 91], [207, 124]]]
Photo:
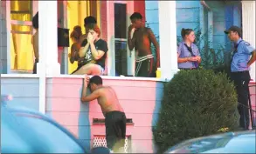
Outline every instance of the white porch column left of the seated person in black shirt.
[[[38, 73], [59, 75], [58, 63], [58, 11], [57, 1], [38, 1], [39, 12], [39, 63]], [[44, 69], [45, 67], [45, 69]]]

